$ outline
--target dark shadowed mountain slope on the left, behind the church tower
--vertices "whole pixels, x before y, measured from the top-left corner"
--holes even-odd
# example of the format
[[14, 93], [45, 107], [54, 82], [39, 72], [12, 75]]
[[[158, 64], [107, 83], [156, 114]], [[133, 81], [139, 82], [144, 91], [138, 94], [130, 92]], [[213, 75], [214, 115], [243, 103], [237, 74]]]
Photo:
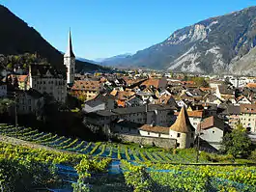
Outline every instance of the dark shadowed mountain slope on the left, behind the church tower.
[[[45, 41], [33, 27], [29, 27], [2, 5], [0, 5], [0, 26], [0, 54], [38, 53], [51, 65], [58, 69], [65, 69], [62, 53]], [[76, 69], [82, 71], [103, 68], [88, 62], [76, 61]]]

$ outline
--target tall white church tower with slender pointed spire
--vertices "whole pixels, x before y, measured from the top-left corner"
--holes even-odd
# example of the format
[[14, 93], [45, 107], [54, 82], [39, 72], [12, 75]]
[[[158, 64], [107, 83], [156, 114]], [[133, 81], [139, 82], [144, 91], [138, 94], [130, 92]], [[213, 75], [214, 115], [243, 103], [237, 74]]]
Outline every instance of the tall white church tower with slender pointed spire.
[[69, 41], [67, 51], [64, 55], [64, 65], [67, 67], [67, 83], [72, 84], [74, 82], [75, 73], [75, 56], [72, 52], [72, 42], [71, 42], [71, 30], [69, 32]]

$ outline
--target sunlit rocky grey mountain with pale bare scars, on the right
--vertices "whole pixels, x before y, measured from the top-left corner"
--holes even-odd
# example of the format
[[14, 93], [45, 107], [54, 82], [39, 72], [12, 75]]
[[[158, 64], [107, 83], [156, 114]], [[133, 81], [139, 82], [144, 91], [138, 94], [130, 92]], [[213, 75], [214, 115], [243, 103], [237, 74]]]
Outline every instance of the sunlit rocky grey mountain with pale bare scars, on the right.
[[256, 7], [250, 7], [179, 29], [167, 40], [118, 60], [113, 65], [236, 73], [238, 69], [246, 69], [248, 59], [243, 57], [253, 56], [250, 50], [255, 44]]

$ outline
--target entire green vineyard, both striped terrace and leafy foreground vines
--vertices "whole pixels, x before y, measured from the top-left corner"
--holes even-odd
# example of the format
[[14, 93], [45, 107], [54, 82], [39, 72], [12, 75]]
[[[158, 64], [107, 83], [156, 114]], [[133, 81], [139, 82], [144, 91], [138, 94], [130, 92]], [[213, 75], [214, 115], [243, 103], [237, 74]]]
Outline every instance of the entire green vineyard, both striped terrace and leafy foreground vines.
[[62, 150], [0, 142], [0, 191], [256, 191], [255, 166], [183, 164], [194, 162], [194, 152], [92, 143], [6, 124], [0, 134]]

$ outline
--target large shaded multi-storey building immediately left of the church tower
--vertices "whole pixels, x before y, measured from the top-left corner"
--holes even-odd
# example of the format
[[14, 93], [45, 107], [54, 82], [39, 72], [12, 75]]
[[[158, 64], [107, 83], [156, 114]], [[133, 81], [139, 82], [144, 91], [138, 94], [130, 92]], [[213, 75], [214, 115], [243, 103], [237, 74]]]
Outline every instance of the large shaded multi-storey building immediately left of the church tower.
[[53, 96], [59, 102], [66, 101], [66, 74], [50, 65], [29, 66], [29, 85], [41, 94]]

